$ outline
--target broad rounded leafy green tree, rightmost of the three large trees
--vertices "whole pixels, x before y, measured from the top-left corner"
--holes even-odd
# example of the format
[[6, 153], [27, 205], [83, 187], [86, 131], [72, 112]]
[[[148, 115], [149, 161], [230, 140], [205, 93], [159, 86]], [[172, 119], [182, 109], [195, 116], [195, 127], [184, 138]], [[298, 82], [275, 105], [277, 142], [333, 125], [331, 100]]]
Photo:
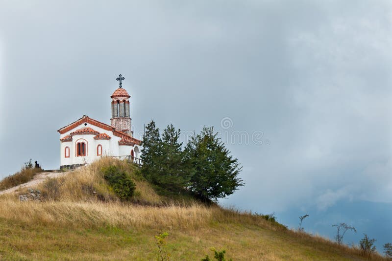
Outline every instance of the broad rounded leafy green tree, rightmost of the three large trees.
[[242, 167], [224, 147], [214, 128], [203, 127], [187, 144], [186, 152], [195, 166], [190, 189], [203, 200], [233, 194], [243, 181], [238, 178]]

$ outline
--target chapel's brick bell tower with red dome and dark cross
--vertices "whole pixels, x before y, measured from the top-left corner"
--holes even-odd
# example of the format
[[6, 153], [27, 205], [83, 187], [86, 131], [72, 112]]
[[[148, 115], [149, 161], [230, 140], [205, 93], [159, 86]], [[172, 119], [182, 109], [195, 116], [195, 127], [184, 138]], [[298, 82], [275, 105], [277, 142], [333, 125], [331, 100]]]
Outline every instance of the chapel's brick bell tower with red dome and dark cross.
[[128, 92], [123, 89], [123, 80], [125, 78], [120, 74], [117, 81], [120, 81], [118, 87], [110, 96], [112, 98], [112, 118], [110, 124], [116, 131], [123, 131], [132, 136], [131, 131], [131, 117], [129, 113], [129, 98]]

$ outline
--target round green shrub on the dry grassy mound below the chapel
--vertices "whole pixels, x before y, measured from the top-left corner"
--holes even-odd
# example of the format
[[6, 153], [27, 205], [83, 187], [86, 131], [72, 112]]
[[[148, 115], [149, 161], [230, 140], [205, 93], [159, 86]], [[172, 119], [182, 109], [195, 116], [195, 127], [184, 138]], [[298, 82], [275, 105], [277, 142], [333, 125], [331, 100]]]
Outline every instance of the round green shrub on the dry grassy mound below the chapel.
[[103, 177], [108, 181], [116, 195], [122, 200], [129, 200], [135, 192], [135, 183], [131, 177], [117, 166], [102, 169]]

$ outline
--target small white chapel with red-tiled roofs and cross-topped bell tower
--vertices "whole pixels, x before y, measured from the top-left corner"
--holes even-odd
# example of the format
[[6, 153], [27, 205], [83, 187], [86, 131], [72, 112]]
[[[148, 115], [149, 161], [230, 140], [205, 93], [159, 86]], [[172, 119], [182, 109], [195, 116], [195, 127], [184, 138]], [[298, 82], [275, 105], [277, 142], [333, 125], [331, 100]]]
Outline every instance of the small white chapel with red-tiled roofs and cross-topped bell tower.
[[60, 169], [73, 169], [89, 164], [102, 156], [128, 158], [140, 162], [141, 141], [131, 130], [131, 97], [123, 88], [124, 77], [116, 79], [119, 87], [110, 96], [110, 125], [83, 115], [58, 130], [60, 133]]

